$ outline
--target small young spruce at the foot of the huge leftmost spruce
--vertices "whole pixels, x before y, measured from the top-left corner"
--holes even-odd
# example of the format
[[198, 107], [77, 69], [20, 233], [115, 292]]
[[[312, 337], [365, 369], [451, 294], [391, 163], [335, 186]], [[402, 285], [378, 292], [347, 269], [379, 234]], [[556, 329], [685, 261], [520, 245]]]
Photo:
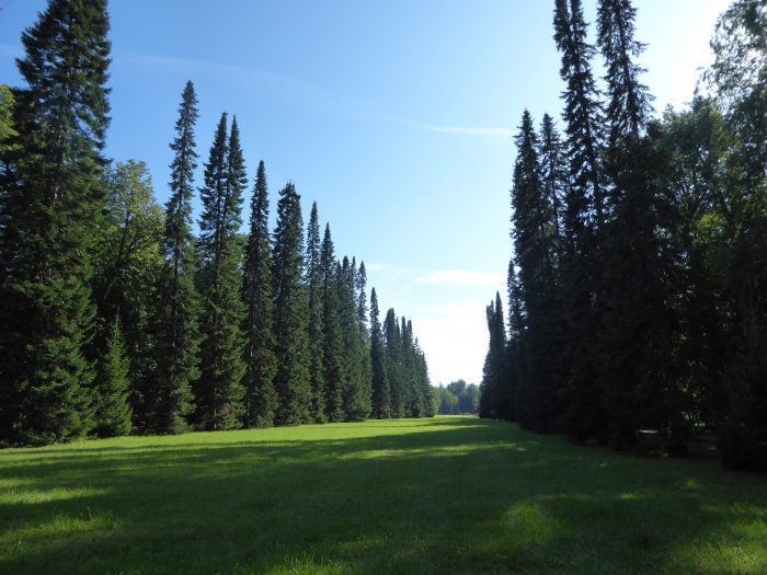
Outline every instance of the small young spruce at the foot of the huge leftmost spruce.
[[125, 338], [115, 318], [106, 349], [99, 361], [96, 373], [95, 427], [99, 437], [128, 435], [133, 427], [130, 417], [129, 360], [125, 348]]

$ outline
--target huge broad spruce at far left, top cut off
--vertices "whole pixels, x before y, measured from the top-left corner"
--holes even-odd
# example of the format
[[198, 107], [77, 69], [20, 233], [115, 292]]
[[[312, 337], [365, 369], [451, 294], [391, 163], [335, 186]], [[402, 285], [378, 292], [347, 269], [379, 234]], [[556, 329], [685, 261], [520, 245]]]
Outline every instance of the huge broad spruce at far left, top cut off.
[[7, 442], [69, 440], [91, 427], [94, 373], [85, 346], [110, 119], [108, 26], [104, 0], [51, 0], [22, 34], [26, 54], [16, 64], [26, 88], [16, 93], [18, 136], [3, 146], [0, 195]]

